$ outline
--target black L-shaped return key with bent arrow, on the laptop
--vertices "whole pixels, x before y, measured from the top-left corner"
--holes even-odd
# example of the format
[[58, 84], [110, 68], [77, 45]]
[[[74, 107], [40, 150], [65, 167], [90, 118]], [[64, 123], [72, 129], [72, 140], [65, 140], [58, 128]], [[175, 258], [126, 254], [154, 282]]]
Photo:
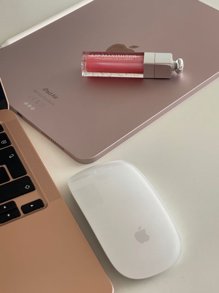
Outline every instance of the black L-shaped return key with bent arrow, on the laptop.
[[26, 175], [24, 165], [12, 146], [0, 150], [0, 165], [6, 165], [14, 179]]

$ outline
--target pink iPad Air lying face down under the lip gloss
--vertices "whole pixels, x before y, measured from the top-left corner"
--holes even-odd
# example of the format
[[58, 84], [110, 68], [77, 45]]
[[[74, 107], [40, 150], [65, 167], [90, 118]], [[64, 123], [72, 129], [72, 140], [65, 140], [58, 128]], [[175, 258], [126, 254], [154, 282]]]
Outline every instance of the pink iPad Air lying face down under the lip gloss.
[[[15, 113], [90, 163], [219, 76], [218, 27], [198, 0], [95, 0], [1, 49], [0, 75]], [[82, 77], [82, 52], [106, 50], [172, 53], [184, 72]]]

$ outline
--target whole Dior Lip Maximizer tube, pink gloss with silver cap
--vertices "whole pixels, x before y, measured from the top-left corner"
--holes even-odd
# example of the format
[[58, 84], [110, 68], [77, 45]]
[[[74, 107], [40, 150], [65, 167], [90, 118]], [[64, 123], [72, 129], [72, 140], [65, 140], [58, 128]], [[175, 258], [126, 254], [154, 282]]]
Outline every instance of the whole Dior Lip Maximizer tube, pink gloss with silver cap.
[[82, 76], [170, 78], [184, 64], [172, 53], [83, 52], [81, 66]]

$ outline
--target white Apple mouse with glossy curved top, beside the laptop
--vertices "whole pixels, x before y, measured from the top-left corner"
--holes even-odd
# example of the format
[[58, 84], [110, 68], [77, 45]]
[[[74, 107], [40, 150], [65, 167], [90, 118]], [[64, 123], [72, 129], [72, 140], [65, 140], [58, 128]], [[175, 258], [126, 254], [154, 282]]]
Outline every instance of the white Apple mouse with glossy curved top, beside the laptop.
[[168, 269], [181, 253], [181, 237], [146, 177], [125, 161], [87, 168], [69, 188], [112, 265], [141, 279]]

